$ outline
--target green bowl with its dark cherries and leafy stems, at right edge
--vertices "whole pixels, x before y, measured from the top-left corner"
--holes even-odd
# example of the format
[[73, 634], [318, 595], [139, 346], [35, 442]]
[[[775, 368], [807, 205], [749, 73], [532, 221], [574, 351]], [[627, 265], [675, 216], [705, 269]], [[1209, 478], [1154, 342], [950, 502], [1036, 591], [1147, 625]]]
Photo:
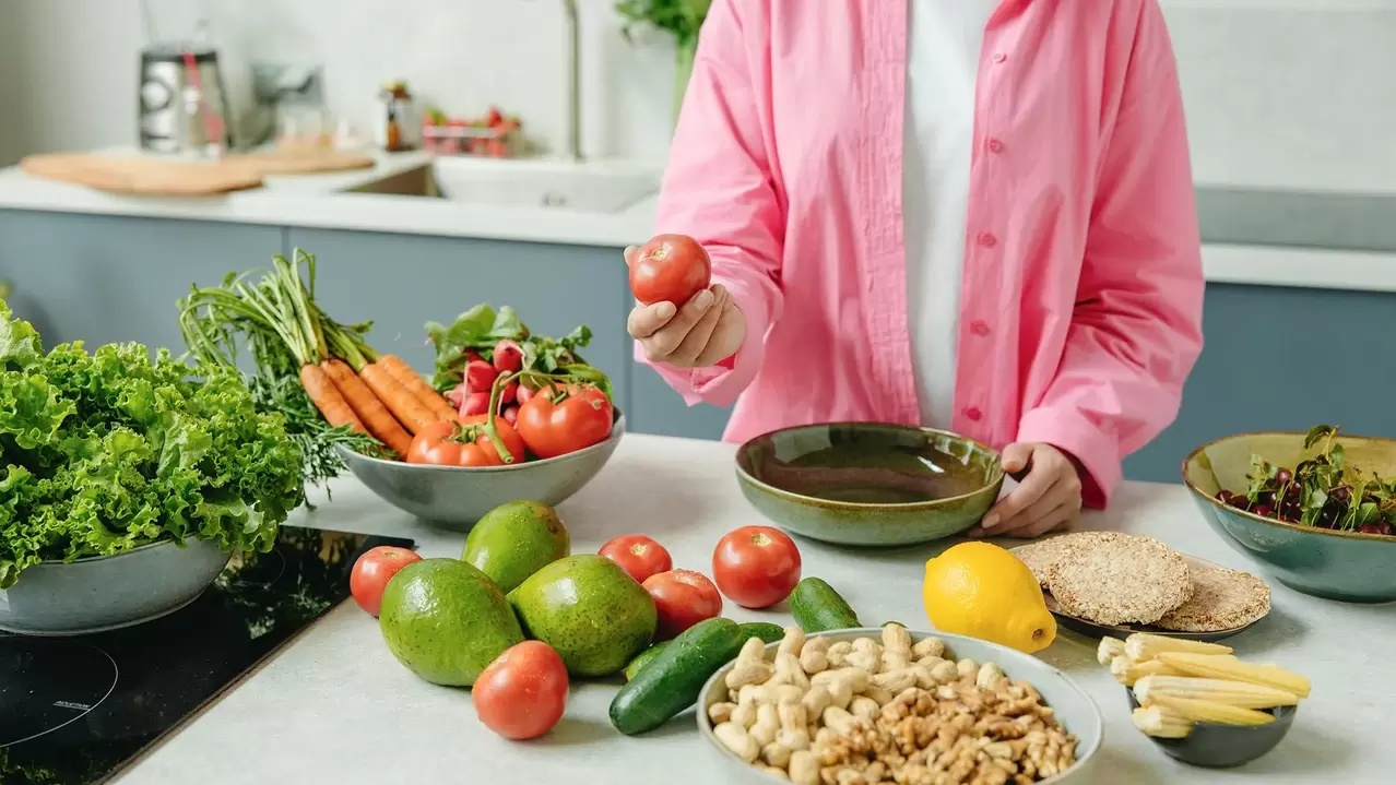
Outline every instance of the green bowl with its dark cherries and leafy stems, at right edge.
[[1202, 445], [1182, 480], [1202, 516], [1276, 580], [1326, 600], [1396, 600], [1396, 441], [1237, 434]]

